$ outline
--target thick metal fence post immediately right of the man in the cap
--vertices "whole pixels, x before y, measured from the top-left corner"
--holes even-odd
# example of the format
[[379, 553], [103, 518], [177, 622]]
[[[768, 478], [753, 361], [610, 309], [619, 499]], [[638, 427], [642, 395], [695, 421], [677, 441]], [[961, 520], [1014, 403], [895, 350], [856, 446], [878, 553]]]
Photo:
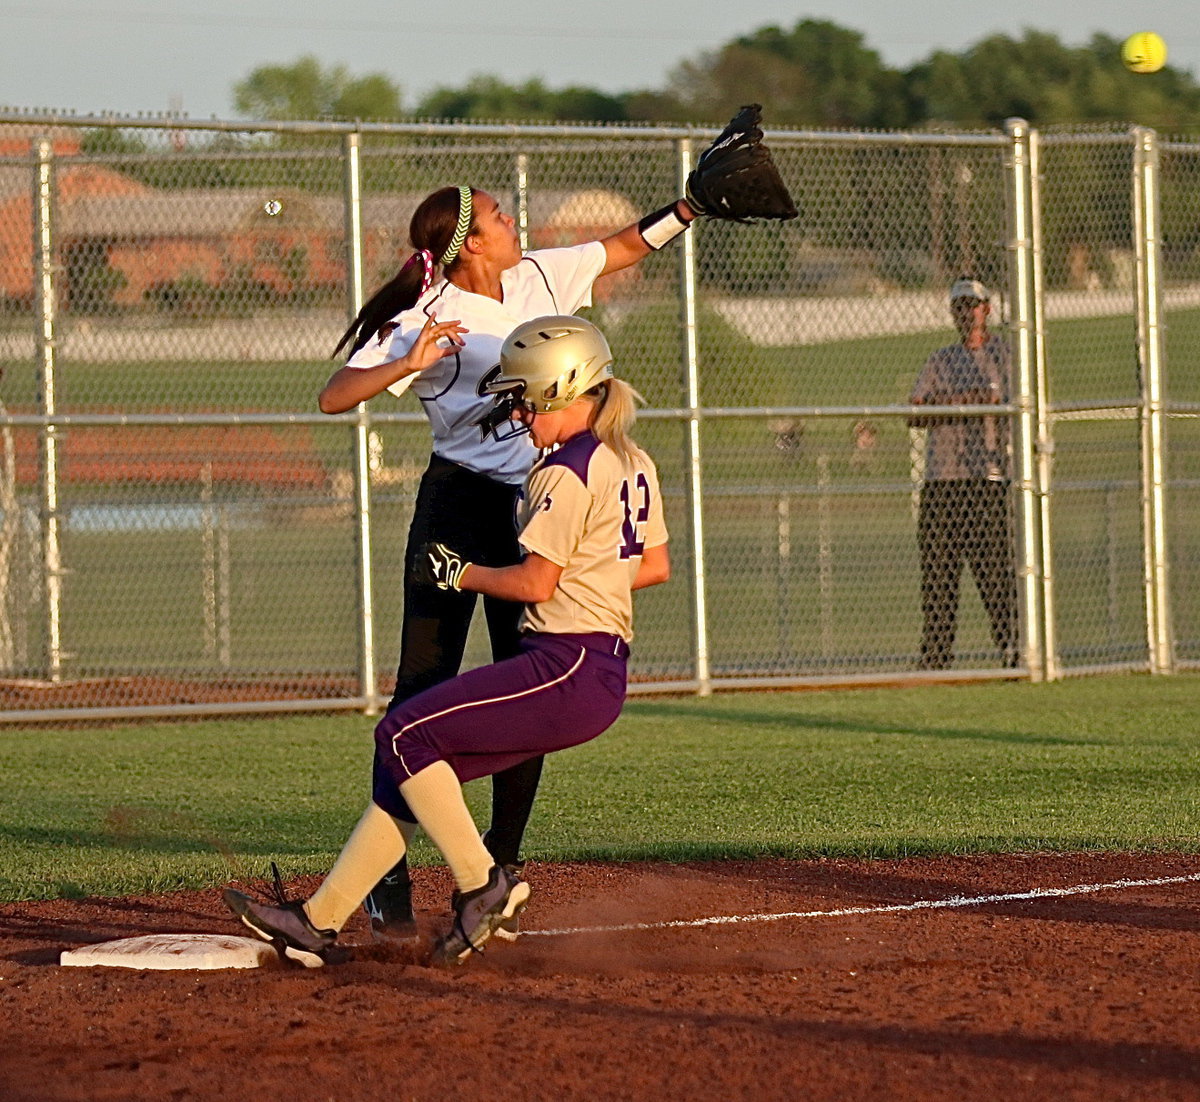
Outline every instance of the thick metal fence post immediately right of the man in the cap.
[[1024, 119], [1004, 124], [1009, 145], [1006, 156], [1008, 187], [1008, 272], [1013, 312], [1009, 319], [1013, 349], [1013, 489], [1015, 491], [1018, 599], [1021, 654], [1031, 681], [1045, 677], [1040, 612], [1037, 468], [1034, 465], [1034, 303], [1033, 233], [1030, 210], [1030, 127]]

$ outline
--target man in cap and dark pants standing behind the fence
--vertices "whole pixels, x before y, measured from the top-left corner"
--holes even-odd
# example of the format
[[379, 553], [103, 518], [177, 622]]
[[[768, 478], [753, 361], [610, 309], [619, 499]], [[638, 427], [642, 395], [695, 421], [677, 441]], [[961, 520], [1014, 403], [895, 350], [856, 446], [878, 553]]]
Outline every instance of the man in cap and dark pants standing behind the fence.
[[[950, 315], [961, 340], [925, 361], [913, 406], [984, 406], [1009, 401], [1008, 342], [988, 331], [991, 293], [964, 276], [950, 287]], [[971, 568], [1007, 667], [1018, 663], [1016, 570], [1009, 503], [1012, 448], [1007, 417], [914, 417], [926, 430], [924, 481], [917, 517], [920, 666], [954, 660], [962, 567]]]

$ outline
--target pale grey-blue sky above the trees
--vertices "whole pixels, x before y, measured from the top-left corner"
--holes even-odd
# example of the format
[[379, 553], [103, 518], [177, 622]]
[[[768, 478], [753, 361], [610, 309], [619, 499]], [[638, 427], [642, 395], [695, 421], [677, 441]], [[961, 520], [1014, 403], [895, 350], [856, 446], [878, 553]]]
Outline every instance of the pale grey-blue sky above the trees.
[[1200, 74], [1195, 0], [1159, 0], [1140, 14], [1133, 7], [1129, 0], [851, 7], [838, 0], [0, 0], [0, 107], [235, 119], [234, 84], [262, 65], [306, 54], [355, 77], [384, 73], [406, 108], [476, 74], [630, 91], [662, 88], [680, 61], [738, 35], [800, 19], [860, 31], [895, 68], [997, 32], [1050, 31], [1082, 46], [1098, 31], [1124, 38], [1154, 30], [1166, 40], [1169, 64]]

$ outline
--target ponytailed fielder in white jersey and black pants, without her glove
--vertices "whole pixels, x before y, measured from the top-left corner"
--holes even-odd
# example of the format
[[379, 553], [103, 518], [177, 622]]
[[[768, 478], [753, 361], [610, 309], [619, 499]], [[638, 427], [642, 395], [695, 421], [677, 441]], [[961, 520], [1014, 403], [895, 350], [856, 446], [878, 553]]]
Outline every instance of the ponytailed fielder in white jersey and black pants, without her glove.
[[[475, 593], [413, 582], [418, 549], [445, 543], [487, 567], [521, 557], [515, 507], [536, 450], [508, 420], [481, 429], [492, 399], [480, 382], [499, 361], [502, 341], [530, 318], [590, 305], [600, 276], [661, 248], [695, 217], [679, 199], [604, 240], [522, 254], [512, 217], [485, 191], [443, 187], [416, 208], [413, 254], [343, 335], [334, 354], [349, 346], [349, 360], [319, 399], [324, 413], [342, 413], [384, 390], [398, 397], [412, 389], [433, 430], [404, 553], [400, 666], [389, 712], [458, 672], [475, 609]], [[516, 654], [521, 604], [485, 594], [484, 611], [493, 660]], [[541, 766], [534, 756], [493, 777], [485, 844], [510, 869], [521, 864]], [[415, 936], [403, 861], [371, 892], [366, 909], [378, 939]]]

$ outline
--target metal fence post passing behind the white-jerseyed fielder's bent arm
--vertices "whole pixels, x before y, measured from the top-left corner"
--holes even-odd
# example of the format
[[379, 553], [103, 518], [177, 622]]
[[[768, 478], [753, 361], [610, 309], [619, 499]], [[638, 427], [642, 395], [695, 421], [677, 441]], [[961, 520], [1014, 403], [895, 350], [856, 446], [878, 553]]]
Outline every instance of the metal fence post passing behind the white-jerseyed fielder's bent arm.
[[[346, 134], [346, 272], [347, 306], [350, 321], [362, 309], [362, 163], [361, 134]], [[374, 593], [371, 573], [371, 414], [366, 402], [358, 407], [352, 426], [354, 439], [354, 532], [358, 550], [359, 591], [359, 694], [364, 712], [379, 709], [374, 660]]]

